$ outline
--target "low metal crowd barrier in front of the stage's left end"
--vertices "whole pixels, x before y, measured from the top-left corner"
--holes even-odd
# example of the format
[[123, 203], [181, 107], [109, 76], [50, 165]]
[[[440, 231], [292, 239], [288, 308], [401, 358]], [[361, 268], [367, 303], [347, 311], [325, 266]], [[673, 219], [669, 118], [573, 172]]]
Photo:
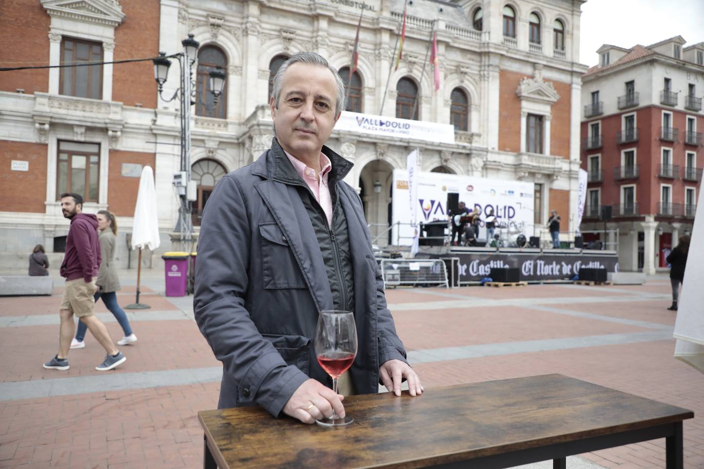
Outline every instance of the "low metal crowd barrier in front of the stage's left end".
[[384, 288], [398, 285], [445, 285], [450, 288], [442, 259], [382, 259]]

